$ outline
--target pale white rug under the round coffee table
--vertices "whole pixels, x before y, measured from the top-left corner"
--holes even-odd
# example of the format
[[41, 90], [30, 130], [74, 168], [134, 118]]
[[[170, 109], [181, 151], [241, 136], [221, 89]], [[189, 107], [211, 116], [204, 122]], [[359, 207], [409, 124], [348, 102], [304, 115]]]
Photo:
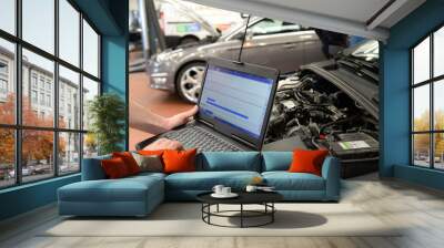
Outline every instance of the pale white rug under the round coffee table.
[[[238, 206], [221, 206], [221, 210]], [[215, 209], [215, 207], [214, 207]], [[167, 203], [147, 218], [65, 218], [41, 236], [398, 236], [390, 227], [351, 204], [276, 204], [275, 221], [264, 227], [225, 228], [201, 219], [196, 203]], [[238, 225], [236, 218], [214, 218]], [[263, 219], [256, 219], [256, 221]], [[254, 224], [249, 220], [248, 224]]]

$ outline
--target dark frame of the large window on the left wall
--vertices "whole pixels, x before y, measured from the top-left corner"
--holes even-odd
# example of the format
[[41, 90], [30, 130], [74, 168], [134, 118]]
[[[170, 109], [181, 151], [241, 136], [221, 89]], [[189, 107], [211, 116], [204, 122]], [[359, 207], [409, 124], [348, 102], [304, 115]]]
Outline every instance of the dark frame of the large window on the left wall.
[[[92, 23], [92, 21], [80, 10], [80, 8], [72, 1], [72, 0], [65, 0], [71, 7], [79, 12], [79, 65], [71, 64], [70, 62], [59, 58], [59, 40], [60, 40], [60, 32], [59, 32], [59, 22], [60, 22], [60, 16], [59, 16], [59, 1], [60, 0], [53, 0], [54, 2], [54, 53], [51, 54], [50, 52], [44, 51], [43, 49], [40, 49], [36, 45], [33, 45], [30, 42], [27, 42], [26, 40], [22, 39], [22, 0], [16, 0], [16, 6], [14, 6], [14, 11], [16, 11], [16, 27], [14, 27], [14, 34], [11, 34], [4, 30], [0, 29], [0, 39], [3, 39], [6, 41], [12, 42], [14, 45], [14, 58], [13, 58], [13, 75], [11, 76], [13, 79], [12, 83], [14, 83], [14, 90], [16, 90], [16, 106], [14, 106], [14, 123], [13, 124], [2, 124], [0, 123], [0, 128], [11, 128], [14, 132], [14, 184], [11, 185], [6, 185], [6, 186], [0, 186], [0, 190], [4, 188], [11, 188], [11, 187], [18, 187], [20, 185], [26, 185], [26, 184], [33, 184], [41, 180], [48, 180], [54, 177], [59, 176], [69, 176], [72, 174], [78, 174], [82, 169], [82, 158], [83, 158], [83, 136], [84, 134], [88, 133], [88, 130], [83, 128], [83, 120], [80, 118], [80, 123], [78, 128], [62, 128], [59, 127], [59, 65], [64, 66], [65, 69], [69, 69], [75, 73], [79, 73], [79, 92], [81, 93], [83, 91], [83, 76], [97, 82], [99, 84], [99, 92], [98, 94], [102, 94], [102, 80], [101, 80], [101, 58], [102, 58], [102, 48], [101, 48], [101, 41], [102, 41], [102, 33], [97, 29], [97, 27]], [[98, 76], [94, 76], [87, 71], [83, 70], [83, 20], [88, 22], [88, 24], [93, 29], [93, 31], [98, 34]], [[22, 89], [22, 72], [23, 72], [23, 63], [22, 63], [22, 50], [26, 49], [30, 52], [36, 53], [37, 55], [40, 55], [44, 59], [48, 59], [53, 62], [54, 70], [53, 70], [53, 93], [51, 94], [51, 107], [53, 107], [52, 114], [53, 114], [53, 124], [51, 127], [43, 127], [43, 126], [31, 126], [31, 125], [23, 125], [22, 123], [22, 94], [23, 94], [23, 89]], [[31, 81], [31, 74], [32, 71], [30, 71], [30, 81], [29, 87], [30, 90], [33, 89], [33, 82]], [[46, 81], [44, 81], [46, 82]], [[37, 78], [37, 89], [38, 92], [40, 89], [40, 78]], [[43, 85], [46, 86], [46, 85]], [[46, 92], [46, 87], [43, 87], [43, 92]], [[46, 94], [47, 95], [47, 94]], [[31, 99], [30, 99], [31, 101]], [[40, 101], [38, 99], [38, 101]], [[83, 114], [83, 97], [82, 94], [79, 94], [79, 116], [82, 116]], [[44, 104], [47, 105], [47, 104]], [[52, 166], [53, 166], [53, 172], [51, 175], [48, 175], [48, 177], [42, 178], [42, 179], [36, 179], [36, 180], [29, 180], [29, 182], [23, 182], [23, 176], [22, 176], [22, 132], [23, 131], [49, 131], [52, 132], [53, 135], [53, 151], [52, 151], [52, 157], [54, 158], [52, 161]], [[59, 157], [59, 134], [62, 133], [73, 133], [73, 134], [79, 134], [79, 169], [75, 172], [69, 172], [69, 173], [60, 173], [60, 162], [58, 159]]]

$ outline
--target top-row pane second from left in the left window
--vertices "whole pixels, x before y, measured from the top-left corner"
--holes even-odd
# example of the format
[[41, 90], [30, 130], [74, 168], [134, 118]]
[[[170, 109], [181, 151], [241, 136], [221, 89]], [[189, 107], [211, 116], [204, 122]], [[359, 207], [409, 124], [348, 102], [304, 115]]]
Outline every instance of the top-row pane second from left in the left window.
[[54, 53], [54, 0], [22, 0], [23, 40]]

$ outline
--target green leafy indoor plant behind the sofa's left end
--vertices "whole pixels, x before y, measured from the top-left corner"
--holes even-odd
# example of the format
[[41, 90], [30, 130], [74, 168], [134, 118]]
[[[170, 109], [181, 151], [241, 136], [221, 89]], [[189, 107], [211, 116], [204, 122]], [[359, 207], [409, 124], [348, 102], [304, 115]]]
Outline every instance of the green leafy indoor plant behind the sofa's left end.
[[125, 105], [117, 94], [95, 96], [89, 102], [88, 117], [100, 155], [122, 151], [120, 143], [124, 138]]

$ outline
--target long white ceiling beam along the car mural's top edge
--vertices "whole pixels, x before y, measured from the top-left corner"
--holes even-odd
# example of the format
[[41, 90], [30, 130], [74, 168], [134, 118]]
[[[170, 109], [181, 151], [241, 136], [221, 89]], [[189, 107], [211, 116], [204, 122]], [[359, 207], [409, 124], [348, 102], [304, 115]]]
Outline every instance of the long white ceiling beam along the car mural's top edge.
[[188, 0], [204, 6], [211, 6], [220, 9], [232, 10], [243, 13], [250, 13], [258, 17], [273, 18], [282, 21], [294, 22], [301, 25], [330, 30], [352, 35], [365, 37], [385, 41], [389, 39], [389, 30], [384, 28], [374, 28], [369, 30], [365, 23], [357, 21], [329, 17], [295, 9], [294, 7], [280, 7], [270, 3], [256, 2], [254, 0]]

